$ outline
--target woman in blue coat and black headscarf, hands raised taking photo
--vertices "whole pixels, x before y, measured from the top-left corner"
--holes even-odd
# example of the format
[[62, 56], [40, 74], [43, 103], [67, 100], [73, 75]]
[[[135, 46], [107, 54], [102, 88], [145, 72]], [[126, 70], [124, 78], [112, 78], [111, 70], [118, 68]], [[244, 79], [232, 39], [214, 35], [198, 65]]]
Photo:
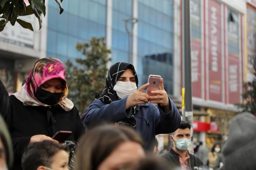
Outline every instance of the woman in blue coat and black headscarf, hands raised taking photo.
[[[157, 96], [143, 92], [149, 83], [138, 88], [134, 66], [117, 62], [108, 71], [106, 85], [90, 104], [84, 116], [84, 126], [99, 122], [112, 122], [133, 127], [145, 142], [145, 149], [153, 149], [155, 135], [174, 132], [180, 125], [180, 113], [164, 90], [151, 91]], [[157, 104], [157, 107], [156, 107]]]

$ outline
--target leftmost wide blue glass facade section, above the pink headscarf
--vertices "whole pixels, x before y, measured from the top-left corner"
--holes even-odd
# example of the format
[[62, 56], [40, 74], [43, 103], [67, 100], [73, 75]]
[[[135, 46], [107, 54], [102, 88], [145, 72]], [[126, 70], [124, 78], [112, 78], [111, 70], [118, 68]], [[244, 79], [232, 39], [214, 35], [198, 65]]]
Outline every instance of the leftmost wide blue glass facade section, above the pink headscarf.
[[49, 0], [47, 56], [65, 62], [81, 57], [77, 42], [88, 42], [92, 36], [106, 36], [106, 0], [64, 0], [64, 12]]

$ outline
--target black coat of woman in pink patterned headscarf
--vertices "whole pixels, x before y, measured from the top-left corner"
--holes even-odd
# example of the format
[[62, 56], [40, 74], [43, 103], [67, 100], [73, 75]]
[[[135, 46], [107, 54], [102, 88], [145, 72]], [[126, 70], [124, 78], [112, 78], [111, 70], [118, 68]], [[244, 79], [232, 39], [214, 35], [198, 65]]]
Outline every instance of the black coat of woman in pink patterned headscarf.
[[70, 130], [73, 133], [67, 140], [77, 141], [84, 132], [76, 107], [65, 111], [59, 105], [25, 106], [13, 95], [9, 100], [9, 111], [3, 116], [12, 137], [15, 154], [13, 170], [21, 170], [21, 157], [31, 136], [42, 134], [52, 137], [59, 130]]

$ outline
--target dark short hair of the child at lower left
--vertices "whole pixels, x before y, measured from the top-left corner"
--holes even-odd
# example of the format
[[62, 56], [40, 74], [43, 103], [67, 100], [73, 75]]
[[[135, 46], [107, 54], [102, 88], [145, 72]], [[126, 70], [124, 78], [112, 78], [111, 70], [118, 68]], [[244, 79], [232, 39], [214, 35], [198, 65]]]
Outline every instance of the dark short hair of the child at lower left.
[[67, 151], [67, 147], [52, 141], [44, 140], [29, 144], [22, 156], [23, 170], [36, 170], [39, 166], [50, 167], [52, 157], [60, 150]]

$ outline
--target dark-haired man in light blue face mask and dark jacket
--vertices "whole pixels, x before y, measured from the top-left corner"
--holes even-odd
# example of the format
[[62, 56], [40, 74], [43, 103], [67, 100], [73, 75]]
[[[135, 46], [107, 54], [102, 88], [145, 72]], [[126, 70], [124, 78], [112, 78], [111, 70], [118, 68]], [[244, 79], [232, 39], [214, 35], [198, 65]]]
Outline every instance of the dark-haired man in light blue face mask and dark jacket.
[[187, 150], [191, 144], [190, 128], [189, 123], [181, 122], [180, 127], [170, 136], [173, 142], [171, 150], [161, 156], [181, 170], [202, 170], [203, 162]]

